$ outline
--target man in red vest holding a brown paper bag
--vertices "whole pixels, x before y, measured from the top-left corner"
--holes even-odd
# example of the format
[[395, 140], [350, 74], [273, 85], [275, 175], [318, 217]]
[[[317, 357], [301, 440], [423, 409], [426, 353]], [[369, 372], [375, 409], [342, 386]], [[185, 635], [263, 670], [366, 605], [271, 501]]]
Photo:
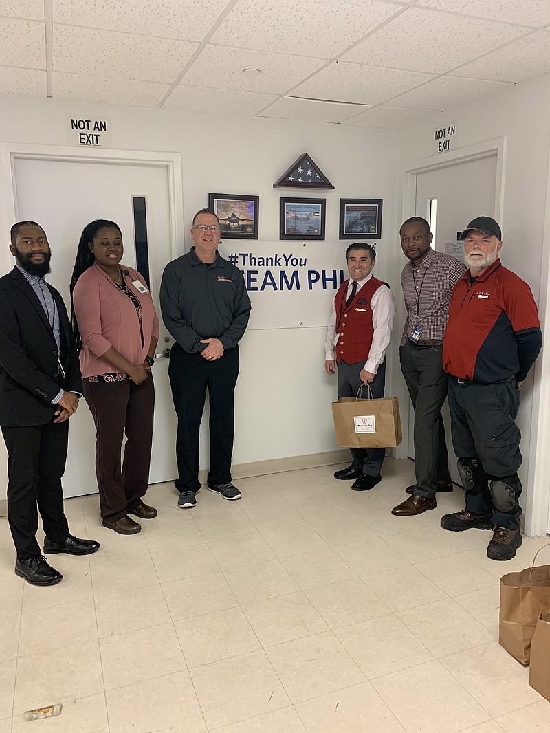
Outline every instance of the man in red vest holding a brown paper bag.
[[[340, 285], [326, 332], [327, 374], [338, 365], [338, 397], [355, 397], [361, 384], [373, 397], [384, 397], [386, 347], [392, 338], [395, 300], [386, 283], [372, 276], [376, 262], [370, 244], [353, 243], [346, 251], [350, 279]], [[381, 482], [386, 449], [351, 448], [353, 462], [335, 479], [356, 479], [352, 489], [366, 491]]]

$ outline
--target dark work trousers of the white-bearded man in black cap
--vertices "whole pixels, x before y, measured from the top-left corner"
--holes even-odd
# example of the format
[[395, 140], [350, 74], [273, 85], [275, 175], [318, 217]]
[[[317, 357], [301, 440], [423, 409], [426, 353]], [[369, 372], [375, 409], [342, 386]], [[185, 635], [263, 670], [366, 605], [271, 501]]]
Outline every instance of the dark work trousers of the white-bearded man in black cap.
[[[519, 441], [521, 432], [516, 425], [519, 409], [516, 379], [493, 384], [458, 383], [449, 380], [452, 446], [459, 458], [477, 458], [487, 474], [474, 490], [466, 492], [466, 509], [474, 514], [492, 514], [499, 527], [519, 529], [521, 465]], [[513, 488], [516, 507], [500, 512], [494, 507], [488, 479], [501, 479]]]

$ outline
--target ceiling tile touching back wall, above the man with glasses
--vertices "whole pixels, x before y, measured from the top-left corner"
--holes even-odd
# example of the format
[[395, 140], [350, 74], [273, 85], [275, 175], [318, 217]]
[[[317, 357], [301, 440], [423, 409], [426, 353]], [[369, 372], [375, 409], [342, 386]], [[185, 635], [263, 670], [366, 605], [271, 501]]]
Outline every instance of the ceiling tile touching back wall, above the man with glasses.
[[207, 89], [202, 86], [176, 86], [163, 107], [211, 114], [254, 115], [276, 95], [255, 92], [232, 92], [230, 89]]

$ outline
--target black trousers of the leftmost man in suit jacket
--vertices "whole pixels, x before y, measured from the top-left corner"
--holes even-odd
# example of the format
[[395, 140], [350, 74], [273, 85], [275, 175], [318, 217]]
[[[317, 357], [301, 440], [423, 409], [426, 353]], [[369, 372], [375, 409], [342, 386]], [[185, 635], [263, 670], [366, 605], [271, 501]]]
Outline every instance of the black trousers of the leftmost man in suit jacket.
[[69, 536], [61, 479], [67, 460], [69, 422], [4, 427], [8, 460], [7, 516], [18, 560], [40, 555], [38, 509], [48, 539]]

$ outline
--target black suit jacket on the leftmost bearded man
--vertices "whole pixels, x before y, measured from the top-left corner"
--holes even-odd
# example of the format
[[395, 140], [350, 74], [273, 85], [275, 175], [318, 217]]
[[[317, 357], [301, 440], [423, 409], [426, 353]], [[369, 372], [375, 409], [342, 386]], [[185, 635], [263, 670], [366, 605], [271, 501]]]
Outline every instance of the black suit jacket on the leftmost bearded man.
[[76, 343], [60, 293], [48, 284], [59, 312], [61, 363], [54, 331], [32, 286], [18, 268], [0, 278], [0, 425], [44, 425], [59, 389], [81, 393]]

